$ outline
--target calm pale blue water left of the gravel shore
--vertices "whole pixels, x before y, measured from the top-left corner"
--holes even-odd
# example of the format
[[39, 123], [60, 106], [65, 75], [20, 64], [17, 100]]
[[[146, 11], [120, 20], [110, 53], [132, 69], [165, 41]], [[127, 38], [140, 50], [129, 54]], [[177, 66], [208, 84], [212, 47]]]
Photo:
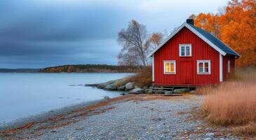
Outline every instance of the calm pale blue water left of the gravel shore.
[[0, 124], [72, 104], [117, 97], [120, 92], [83, 86], [128, 73], [0, 73]]

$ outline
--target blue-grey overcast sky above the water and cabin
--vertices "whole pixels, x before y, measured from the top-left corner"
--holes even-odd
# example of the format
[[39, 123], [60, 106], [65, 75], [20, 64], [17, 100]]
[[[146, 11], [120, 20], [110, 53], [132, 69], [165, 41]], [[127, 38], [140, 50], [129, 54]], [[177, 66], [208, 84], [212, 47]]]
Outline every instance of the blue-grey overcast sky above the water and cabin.
[[225, 0], [1, 0], [0, 68], [116, 64], [117, 33], [132, 19], [171, 31]]

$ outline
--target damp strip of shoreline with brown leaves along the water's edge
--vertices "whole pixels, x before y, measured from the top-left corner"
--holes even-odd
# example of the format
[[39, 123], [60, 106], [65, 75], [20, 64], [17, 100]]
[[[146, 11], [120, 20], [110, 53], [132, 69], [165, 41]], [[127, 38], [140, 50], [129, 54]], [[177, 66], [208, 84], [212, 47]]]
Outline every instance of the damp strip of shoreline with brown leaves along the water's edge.
[[[65, 106], [60, 109], [54, 109], [52, 111], [46, 111], [43, 113], [39, 113], [38, 115], [29, 116], [25, 118], [20, 118], [18, 120], [13, 120], [10, 123], [1, 124], [0, 125], [0, 137], [5, 135], [6, 133], [15, 133], [22, 130], [29, 129], [33, 125], [37, 125], [40, 123], [47, 123], [52, 120], [69, 120], [70, 118], [63, 119], [63, 116], [80, 116], [79, 113], [84, 111], [95, 111], [102, 106], [107, 106], [109, 104], [113, 104], [114, 102], [126, 101], [130, 97], [133, 97], [133, 94], [128, 94], [124, 96], [114, 97], [110, 99], [98, 99], [90, 102], [83, 102], [80, 104], [74, 104], [71, 106]], [[83, 114], [90, 115], [90, 114]], [[72, 118], [72, 117], [71, 117]], [[58, 122], [58, 121], [56, 121]]]

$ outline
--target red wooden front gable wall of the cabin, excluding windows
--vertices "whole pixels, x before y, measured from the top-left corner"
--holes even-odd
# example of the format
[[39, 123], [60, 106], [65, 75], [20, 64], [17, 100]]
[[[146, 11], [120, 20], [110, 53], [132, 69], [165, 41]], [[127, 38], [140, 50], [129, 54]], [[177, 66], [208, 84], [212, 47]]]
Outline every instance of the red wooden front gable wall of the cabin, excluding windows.
[[[179, 44], [191, 44], [192, 56], [180, 57]], [[176, 61], [176, 74], [163, 74], [163, 60]], [[210, 60], [211, 73], [198, 75], [196, 60]], [[220, 83], [219, 73], [220, 53], [186, 27], [154, 53], [155, 85], [213, 85]]]

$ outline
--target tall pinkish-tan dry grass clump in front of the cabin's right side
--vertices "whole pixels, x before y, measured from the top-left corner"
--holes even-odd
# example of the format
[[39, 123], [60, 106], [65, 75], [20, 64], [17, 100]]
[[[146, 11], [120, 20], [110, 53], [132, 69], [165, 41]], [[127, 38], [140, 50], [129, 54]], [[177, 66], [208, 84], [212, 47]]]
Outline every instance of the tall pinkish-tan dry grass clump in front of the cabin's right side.
[[201, 111], [210, 123], [236, 125], [238, 134], [255, 134], [256, 130], [256, 69], [239, 69], [233, 80], [215, 89], [205, 87]]

